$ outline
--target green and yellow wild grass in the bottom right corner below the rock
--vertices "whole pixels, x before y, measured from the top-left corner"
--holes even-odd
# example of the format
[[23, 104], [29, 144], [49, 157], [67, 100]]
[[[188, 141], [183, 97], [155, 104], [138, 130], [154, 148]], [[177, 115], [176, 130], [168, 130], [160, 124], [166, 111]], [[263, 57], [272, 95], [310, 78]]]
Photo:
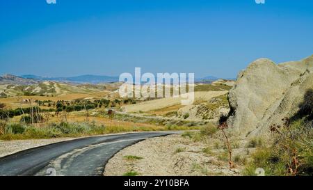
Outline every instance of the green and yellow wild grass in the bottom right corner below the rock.
[[312, 122], [298, 119], [284, 126], [273, 125], [275, 142], [271, 147], [257, 148], [252, 154], [245, 175], [256, 175], [263, 168], [266, 175], [313, 175], [313, 128]]

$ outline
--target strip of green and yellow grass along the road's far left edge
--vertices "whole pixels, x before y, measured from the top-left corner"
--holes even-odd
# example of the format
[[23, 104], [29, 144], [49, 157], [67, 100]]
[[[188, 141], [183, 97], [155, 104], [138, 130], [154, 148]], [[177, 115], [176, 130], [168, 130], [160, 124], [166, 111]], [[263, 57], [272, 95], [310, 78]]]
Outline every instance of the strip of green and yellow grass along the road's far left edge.
[[[2, 127], [1, 127], [2, 126]], [[94, 122], [51, 122], [44, 127], [28, 125], [23, 122], [1, 125], [1, 140], [40, 139], [58, 137], [79, 137], [123, 132], [152, 132], [166, 130], [188, 130], [197, 127], [165, 127], [142, 125], [96, 125]]]

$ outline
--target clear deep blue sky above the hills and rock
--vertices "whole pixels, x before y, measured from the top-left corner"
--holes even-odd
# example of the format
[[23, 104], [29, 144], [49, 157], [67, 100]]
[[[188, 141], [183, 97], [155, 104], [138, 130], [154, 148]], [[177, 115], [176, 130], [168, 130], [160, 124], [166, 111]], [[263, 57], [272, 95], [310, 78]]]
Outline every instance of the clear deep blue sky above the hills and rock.
[[0, 0], [0, 74], [228, 78], [312, 54], [311, 0]]

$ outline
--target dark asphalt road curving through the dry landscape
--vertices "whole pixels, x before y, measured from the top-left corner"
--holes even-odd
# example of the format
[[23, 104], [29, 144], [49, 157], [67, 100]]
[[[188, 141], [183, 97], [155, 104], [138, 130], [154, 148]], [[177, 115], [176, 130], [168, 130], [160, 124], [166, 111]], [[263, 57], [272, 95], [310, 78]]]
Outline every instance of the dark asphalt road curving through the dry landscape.
[[175, 132], [93, 136], [24, 150], [0, 158], [0, 175], [102, 175], [106, 162], [118, 151], [146, 138], [168, 134]]

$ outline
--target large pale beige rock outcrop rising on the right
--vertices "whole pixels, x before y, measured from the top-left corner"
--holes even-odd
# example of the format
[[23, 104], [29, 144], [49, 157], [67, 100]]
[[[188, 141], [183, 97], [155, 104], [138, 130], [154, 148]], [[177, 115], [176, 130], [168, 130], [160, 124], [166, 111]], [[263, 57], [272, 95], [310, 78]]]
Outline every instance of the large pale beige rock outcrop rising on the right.
[[282, 118], [294, 116], [305, 94], [313, 89], [313, 56], [276, 65], [261, 58], [240, 72], [230, 90], [232, 131], [240, 136], [263, 136]]

